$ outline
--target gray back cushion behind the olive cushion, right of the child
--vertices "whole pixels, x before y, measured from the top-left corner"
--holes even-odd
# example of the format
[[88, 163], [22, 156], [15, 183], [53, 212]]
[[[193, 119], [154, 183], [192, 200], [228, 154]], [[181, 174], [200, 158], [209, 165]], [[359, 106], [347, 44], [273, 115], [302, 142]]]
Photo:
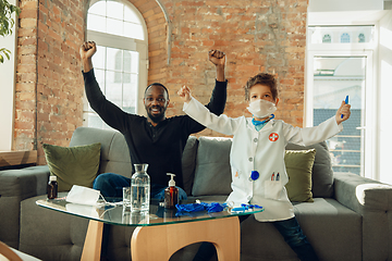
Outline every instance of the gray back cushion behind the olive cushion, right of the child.
[[311, 192], [314, 198], [332, 198], [333, 171], [331, 158], [326, 141], [303, 147], [287, 144], [286, 150], [316, 149], [315, 163], [311, 171]]

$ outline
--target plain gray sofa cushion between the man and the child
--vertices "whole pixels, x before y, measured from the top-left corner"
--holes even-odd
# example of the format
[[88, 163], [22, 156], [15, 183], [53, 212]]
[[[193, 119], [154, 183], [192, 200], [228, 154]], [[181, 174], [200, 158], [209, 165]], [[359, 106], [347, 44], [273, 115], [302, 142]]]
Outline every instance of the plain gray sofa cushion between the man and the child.
[[193, 196], [229, 195], [231, 189], [230, 138], [199, 137]]

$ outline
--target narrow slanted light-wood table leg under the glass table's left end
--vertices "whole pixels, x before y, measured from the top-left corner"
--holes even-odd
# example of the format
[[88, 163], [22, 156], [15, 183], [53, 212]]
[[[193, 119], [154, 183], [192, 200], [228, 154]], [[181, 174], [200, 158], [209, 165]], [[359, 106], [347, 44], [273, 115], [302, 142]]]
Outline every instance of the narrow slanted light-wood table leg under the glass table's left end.
[[81, 261], [99, 261], [102, 243], [103, 223], [95, 220], [88, 222], [87, 234], [83, 246]]

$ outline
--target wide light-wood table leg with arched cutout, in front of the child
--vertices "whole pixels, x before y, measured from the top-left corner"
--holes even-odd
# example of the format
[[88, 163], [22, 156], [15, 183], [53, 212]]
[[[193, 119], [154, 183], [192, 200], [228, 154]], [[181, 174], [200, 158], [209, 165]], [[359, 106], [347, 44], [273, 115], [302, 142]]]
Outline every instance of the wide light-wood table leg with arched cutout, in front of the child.
[[131, 239], [133, 261], [168, 261], [179, 249], [194, 243], [210, 241], [218, 260], [240, 260], [237, 216], [157, 226], [138, 226]]

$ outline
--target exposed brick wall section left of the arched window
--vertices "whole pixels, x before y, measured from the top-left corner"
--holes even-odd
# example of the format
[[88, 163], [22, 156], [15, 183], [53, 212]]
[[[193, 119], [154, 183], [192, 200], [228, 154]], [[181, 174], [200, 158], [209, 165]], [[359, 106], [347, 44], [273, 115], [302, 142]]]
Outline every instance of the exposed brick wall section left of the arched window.
[[83, 1], [21, 1], [15, 105], [15, 149], [68, 146], [82, 125]]

